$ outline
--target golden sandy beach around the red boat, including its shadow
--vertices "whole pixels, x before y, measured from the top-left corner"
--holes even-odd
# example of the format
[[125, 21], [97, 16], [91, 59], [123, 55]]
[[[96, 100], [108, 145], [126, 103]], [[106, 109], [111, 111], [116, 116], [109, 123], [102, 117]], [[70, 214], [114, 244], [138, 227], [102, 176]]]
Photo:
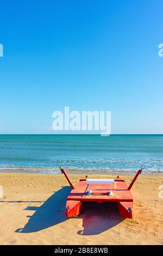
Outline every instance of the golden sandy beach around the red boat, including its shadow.
[[[75, 184], [81, 175], [70, 175]], [[98, 175], [89, 175], [98, 178]], [[103, 178], [112, 178], [103, 175]], [[130, 183], [131, 176], [124, 177]], [[85, 204], [83, 214], [65, 218], [70, 187], [61, 174], [0, 174], [1, 245], [161, 245], [162, 176], [140, 176], [132, 188], [133, 220], [116, 204]]]

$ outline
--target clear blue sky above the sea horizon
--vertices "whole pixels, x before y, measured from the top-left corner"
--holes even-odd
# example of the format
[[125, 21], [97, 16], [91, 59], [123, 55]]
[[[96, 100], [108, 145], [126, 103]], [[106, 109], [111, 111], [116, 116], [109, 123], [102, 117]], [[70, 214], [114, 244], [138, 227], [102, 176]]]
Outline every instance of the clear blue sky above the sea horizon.
[[163, 133], [162, 0], [1, 1], [0, 133], [110, 110], [112, 133]]

